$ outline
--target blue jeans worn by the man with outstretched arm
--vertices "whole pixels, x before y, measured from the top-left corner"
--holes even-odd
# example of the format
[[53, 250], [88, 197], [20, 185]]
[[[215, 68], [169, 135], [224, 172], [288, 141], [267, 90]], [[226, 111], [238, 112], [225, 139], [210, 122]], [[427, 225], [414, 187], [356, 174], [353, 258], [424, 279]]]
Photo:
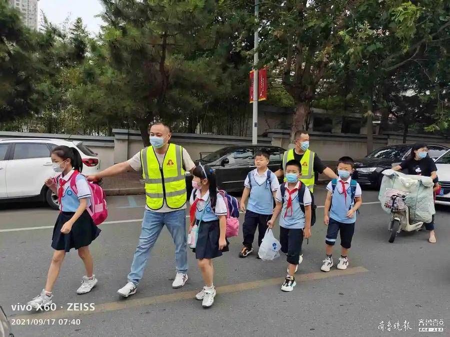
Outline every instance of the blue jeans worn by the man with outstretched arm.
[[162, 227], [167, 226], [173, 242], [175, 243], [176, 272], [187, 273], [187, 245], [186, 245], [186, 217], [185, 210], [168, 213], [157, 213], [145, 210], [142, 219], [139, 243], [134, 252], [131, 271], [128, 274], [128, 282], [137, 285], [142, 279], [148, 254], [156, 239], [161, 233]]

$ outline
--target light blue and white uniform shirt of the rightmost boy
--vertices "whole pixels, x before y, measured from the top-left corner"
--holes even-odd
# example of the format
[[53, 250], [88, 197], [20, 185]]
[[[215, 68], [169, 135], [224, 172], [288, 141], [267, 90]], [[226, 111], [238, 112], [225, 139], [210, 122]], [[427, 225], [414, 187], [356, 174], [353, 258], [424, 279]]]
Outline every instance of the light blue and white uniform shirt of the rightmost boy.
[[[356, 221], [356, 212], [354, 212], [353, 217], [347, 218], [348, 210], [354, 205], [354, 200], [351, 199], [350, 180], [351, 179], [348, 178], [347, 181], [345, 181], [345, 193], [343, 192], [344, 189], [341, 183], [343, 180], [340, 179], [340, 177], [337, 178], [334, 192], [331, 182], [326, 185], [326, 189], [332, 194], [329, 217], [343, 224], [352, 224]], [[361, 194], [361, 187], [356, 183], [354, 197], [360, 197]]]

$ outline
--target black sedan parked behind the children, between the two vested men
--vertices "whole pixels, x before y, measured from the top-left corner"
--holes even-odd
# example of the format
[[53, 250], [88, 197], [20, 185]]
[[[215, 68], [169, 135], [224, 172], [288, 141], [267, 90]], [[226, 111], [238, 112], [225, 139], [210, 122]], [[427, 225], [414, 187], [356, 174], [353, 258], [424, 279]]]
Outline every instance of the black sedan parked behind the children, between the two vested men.
[[[217, 186], [227, 192], [241, 192], [243, 183], [248, 172], [255, 168], [254, 155], [258, 151], [265, 151], [269, 154], [268, 168], [275, 172], [279, 169], [283, 159], [284, 149], [277, 146], [264, 145], [244, 145], [228, 146], [208, 154], [201, 160], [202, 165], [208, 165], [215, 171]], [[192, 190], [192, 177], [186, 177], [187, 196]]]

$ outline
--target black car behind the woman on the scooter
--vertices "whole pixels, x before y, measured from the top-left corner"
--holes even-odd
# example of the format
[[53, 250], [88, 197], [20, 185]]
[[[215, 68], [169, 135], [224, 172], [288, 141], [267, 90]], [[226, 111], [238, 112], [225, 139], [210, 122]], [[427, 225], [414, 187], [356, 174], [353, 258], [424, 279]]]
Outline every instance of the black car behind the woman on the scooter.
[[[412, 145], [396, 144], [383, 146], [362, 159], [356, 159], [356, 170], [353, 178], [361, 186], [366, 185], [379, 188], [383, 176], [381, 172], [392, 168], [393, 164], [398, 164], [404, 160], [411, 152]], [[428, 145], [428, 150], [428, 155], [435, 160], [448, 151], [448, 148], [442, 145]]]

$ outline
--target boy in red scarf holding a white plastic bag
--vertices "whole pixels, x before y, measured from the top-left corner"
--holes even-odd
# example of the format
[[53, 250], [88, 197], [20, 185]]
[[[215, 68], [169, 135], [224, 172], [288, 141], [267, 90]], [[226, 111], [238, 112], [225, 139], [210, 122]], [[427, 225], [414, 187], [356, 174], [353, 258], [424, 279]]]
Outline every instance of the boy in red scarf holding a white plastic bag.
[[279, 242], [281, 252], [287, 258], [287, 276], [281, 290], [291, 292], [295, 287], [294, 274], [298, 267], [303, 238], [311, 237], [311, 193], [298, 179], [301, 167], [296, 160], [286, 163], [284, 176], [287, 182], [276, 191], [276, 206], [272, 218], [267, 222], [273, 228], [274, 222], [281, 212], [279, 219]]

